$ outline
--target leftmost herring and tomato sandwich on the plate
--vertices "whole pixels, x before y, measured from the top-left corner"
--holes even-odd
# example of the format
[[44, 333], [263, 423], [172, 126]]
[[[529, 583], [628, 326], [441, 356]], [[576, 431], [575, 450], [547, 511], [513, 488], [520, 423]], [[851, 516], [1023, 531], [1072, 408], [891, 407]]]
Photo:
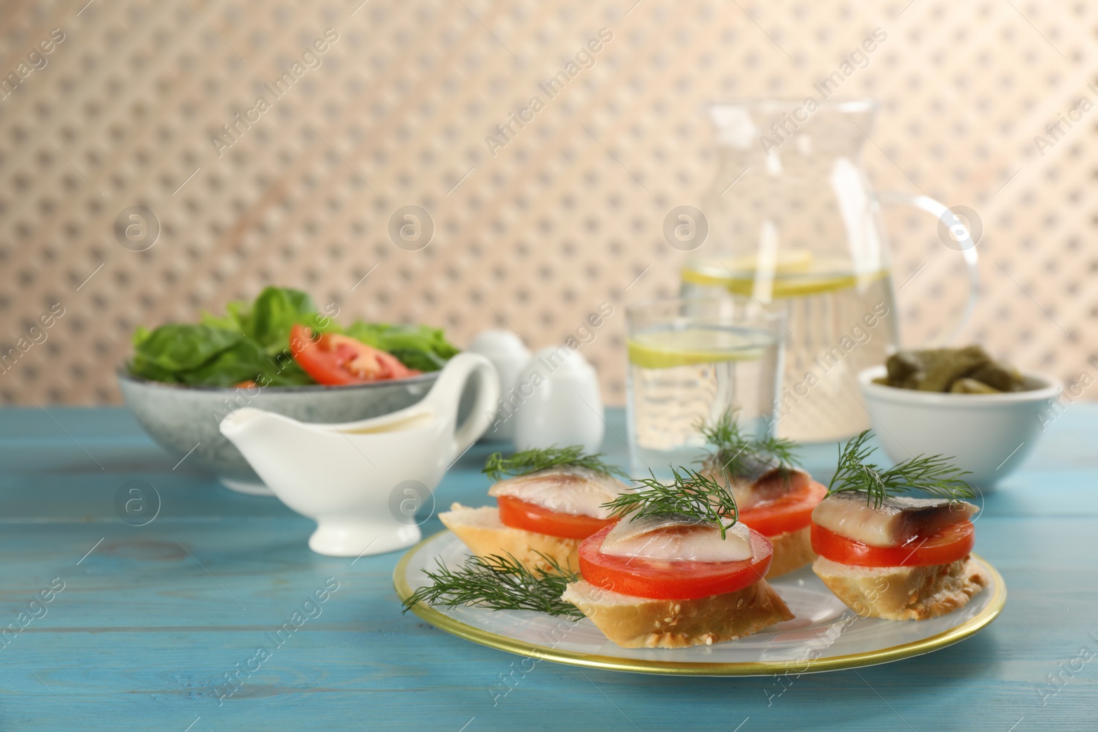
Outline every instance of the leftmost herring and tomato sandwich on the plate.
[[629, 487], [617, 468], [582, 447], [495, 453], [486, 473], [495, 506], [453, 504], [438, 518], [480, 556], [511, 555], [529, 567], [579, 570], [580, 542], [617, 521], [604, 506]]

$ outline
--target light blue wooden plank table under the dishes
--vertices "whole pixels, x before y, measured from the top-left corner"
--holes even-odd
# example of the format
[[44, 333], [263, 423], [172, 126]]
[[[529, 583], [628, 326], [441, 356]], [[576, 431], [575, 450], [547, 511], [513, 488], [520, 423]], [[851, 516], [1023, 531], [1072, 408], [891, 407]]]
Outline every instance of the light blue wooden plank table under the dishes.
[[[624, 433], [619, 412], [610, 424]], [[0, 729], [1096, 730], [1098, 658], [1083, 660], [1098, 655], [1096, 433], [1098, 407], [1071, 407], [986, 498], [976, 549], [1009, 587], [986, 631], [780, 685], [530, 668], [401, 616], [399, 554], [312, 553], [311, 521], [186, 461], [172, 470], [124, 410], [3, 409], [0, 628], [22, 630], [0, 647]], [[614, 432], [607, 449], [624, 462]], [[485, 502], [477, 470], [489, 451], [475, 447], [447, 475], [439, 505]], [[826, 452], [810, 460], [827, 463]], [[132, 480], [161, 498], [144, 527], [115, 513]], [[338, 589], [306, 606], [326, 583]], [[276, 646], [268, 633], [303, 607], [315, 617]], [[270, 657], [257, 661], [257, 646]], [[237, 668], [245, 680], [219, 702], [211, 687]]]

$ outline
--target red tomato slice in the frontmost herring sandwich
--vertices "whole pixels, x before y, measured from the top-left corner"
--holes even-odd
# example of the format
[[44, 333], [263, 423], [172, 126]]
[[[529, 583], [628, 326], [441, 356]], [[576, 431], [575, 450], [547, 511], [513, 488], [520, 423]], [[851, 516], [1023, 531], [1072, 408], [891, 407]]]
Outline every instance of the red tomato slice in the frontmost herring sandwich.
[[753, 556], [741, 562], [648, 560], [602, 552], [606, 527], [580, 544], [580, 574], [591, 584], [623, 595], [660, 600], [690, 600], [742, 589], [763, 578], [774, 545], [751, 531]]

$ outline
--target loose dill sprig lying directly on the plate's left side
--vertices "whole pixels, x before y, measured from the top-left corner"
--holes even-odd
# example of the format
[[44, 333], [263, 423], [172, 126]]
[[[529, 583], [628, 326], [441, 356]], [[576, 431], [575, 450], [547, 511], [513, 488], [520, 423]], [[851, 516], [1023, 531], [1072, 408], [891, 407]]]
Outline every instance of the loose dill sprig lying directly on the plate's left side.
[[436, 572], [423, 571], [430, 578], [430, 584], [405, 599], [401, 613], [407, 612], [417, 603], [427, 603], [447, 607], [477, 605], [493, 610], [537, 610], [579, 620], [583, 617], [580, 608], [560, 599], [560, 596], [564, 586], [579, 581], [580, 575], [540, 552], [538, 555], [550, 568], [530, 570], [512, 554], [470, 556], [457, 570], [436, 560]]

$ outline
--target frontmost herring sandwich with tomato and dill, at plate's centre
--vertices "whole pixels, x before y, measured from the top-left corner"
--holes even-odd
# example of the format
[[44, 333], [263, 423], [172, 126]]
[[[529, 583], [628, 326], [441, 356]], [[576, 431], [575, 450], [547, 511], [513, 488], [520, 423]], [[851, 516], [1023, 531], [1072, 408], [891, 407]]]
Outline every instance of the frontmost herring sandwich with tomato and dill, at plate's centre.
[[610, 504], [623, 519], [581, 543], [561, 595], [623, 647], [712, 645], [793, 619], [763, 578], [770, 540], [736, 521], [727, 486], [683, 470]]

